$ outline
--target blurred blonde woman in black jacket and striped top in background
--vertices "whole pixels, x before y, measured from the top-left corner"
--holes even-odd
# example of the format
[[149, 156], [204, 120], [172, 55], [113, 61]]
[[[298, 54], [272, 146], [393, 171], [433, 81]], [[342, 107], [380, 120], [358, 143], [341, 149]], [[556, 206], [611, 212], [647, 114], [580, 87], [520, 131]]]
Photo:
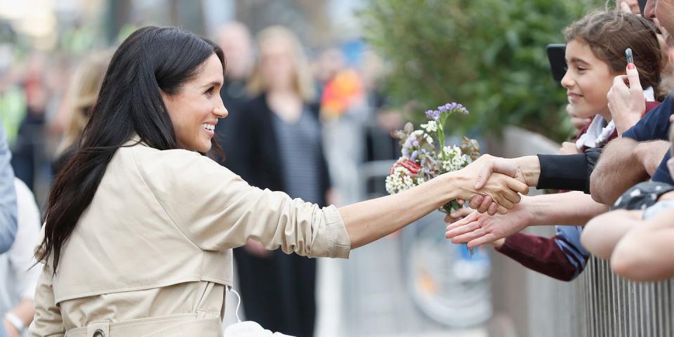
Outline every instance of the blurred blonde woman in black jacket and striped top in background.
[[[324, 206], [331, 184], [322, 148], [315, 91], [303, 48], [284, 27], [257, 37], [259, 60], [249, 80], [253, 98], [230, 157], [251, 185]], [[227, 154], [225, 154], [227, 155]], [[254, 241], [234, 249], [247, 319], [292, 336], [313, 336], [316, 260], [266, 251]]]

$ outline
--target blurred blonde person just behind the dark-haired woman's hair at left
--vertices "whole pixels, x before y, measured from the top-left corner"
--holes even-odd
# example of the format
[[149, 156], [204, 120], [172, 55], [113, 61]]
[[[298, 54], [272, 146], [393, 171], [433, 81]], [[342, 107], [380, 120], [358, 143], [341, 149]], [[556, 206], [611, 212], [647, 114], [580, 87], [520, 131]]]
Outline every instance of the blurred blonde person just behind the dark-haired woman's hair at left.
[[64, 115], [62, 118], [66, 120], [65, 132], [52, 163], [54, 176], [77, 152], [84, 126], [89, 120], [91, 108], [98, 99], [98, 91], [111, 58], [112, 51], [93, 53], [81, 62], [73, 74], [62, 101], [61, 111]]

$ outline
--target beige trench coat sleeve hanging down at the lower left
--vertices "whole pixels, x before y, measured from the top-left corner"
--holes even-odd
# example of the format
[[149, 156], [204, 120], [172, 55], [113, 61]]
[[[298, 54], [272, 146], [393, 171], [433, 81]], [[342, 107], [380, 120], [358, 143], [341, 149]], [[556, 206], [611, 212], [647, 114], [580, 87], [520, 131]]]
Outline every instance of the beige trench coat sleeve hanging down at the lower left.
[[65, 336], [61, 310], [55, 303], [52, 279], [51, 268], [44, 265], [35, 289], [35, 317], [28, 329], [31, 337]]

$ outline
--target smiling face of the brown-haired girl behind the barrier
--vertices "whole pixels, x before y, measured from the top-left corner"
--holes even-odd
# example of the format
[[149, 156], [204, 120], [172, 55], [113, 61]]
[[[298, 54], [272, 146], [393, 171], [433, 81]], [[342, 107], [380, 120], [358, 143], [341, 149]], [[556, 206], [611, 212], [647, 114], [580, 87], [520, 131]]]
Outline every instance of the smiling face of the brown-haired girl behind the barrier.
[[579, 118], [596, 114], [610, 120], [607, 93], [613, 86], [615, 74], [609, 65], [598, 59], [584, 41], [574, 39], [567, 44], [567, 73], [562, 86], [567, 88], [569, 104]]

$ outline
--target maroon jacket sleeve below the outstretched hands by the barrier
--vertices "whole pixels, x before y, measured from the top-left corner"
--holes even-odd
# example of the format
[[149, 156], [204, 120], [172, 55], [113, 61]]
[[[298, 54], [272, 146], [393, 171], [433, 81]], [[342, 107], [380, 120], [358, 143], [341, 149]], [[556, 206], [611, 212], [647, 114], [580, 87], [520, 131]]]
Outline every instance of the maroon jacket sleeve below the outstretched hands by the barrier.
[[557, 246], [555, 238], [516, 233], [506, 237], [503, 246], [496, 251], [531, 270], [562, 281], [571, 281], [576, 275], [576, 268]]

